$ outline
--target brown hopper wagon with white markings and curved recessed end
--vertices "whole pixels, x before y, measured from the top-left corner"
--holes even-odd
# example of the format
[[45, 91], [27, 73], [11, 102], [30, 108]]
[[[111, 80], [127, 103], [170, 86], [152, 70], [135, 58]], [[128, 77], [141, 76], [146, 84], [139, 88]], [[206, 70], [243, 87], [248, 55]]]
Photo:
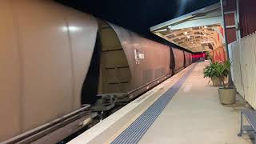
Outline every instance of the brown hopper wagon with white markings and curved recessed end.
[[169, 46], [120, 26], [99, 23], [102, 56], [98, 95], [112, 94], [130, 101], [170, 77]]

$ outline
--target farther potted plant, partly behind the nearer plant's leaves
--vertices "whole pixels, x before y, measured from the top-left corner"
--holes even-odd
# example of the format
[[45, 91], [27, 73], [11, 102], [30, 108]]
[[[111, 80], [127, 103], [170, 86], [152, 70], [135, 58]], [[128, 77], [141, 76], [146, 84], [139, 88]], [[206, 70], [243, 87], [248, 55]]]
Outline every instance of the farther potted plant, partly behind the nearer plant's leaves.
[[210, 65], [206, 66], [206, 68], [203, 70], [203, 78], [210, 78], [210, 80], [213, 82], [213, 86], [220, 86], [222, 84], [219, 78], [219, 74], [215, 70], [217, 65], [218, 62], [210, 62]]

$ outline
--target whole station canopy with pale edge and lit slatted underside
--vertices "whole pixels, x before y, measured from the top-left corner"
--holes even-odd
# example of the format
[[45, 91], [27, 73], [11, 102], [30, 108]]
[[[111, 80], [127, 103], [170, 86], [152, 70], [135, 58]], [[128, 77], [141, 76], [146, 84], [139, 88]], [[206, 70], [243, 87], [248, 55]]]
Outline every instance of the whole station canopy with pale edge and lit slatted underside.
[[152, 26], [150, 31], [192, 52], [217, 49], [224, 43], [221, 4]]

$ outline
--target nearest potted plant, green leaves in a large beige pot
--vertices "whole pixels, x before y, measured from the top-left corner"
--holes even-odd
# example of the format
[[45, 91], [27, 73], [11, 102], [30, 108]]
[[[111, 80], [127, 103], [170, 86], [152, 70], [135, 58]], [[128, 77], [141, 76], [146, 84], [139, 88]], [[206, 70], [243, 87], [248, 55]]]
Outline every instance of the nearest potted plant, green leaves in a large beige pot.
[[233, 104], [237, 93], [234, 86], [230, 82], [225, 82], [225, 79], [230, 75], [231, 62], [218, 62], [214, 65], [214, 71], [218, 75], [223, 87], [218, 88], [219, 99], [222, 104]]

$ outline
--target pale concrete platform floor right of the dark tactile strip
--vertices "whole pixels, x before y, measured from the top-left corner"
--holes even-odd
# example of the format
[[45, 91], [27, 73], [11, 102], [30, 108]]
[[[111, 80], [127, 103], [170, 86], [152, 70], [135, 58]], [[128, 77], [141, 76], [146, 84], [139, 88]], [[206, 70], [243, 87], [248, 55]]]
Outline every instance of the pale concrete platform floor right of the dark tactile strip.
[[173, 144], [247, 144], [248, 137], [238, 137], [239, 110], [222, 106], [218, 90], [203, 78], [206, 63], [194, 68], [178, 93], [138, 142]]

